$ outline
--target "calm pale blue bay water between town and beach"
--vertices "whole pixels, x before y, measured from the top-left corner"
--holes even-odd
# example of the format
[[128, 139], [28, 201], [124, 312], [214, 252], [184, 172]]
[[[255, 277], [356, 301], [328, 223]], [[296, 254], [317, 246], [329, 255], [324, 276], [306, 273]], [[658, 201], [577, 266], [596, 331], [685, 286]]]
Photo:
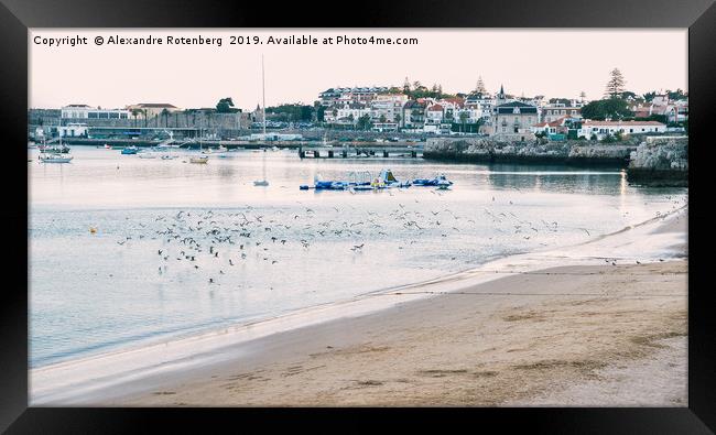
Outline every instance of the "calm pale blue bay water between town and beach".
[[[619, 170], [304, 160], [206, 165], [75, 146], [30, 171], [31, 366], [281, 315], [582, 242], [685, 204]], [[30, 151], [36, 157], [36, 151]], [[303, 192], [315, 174], [444, 173], [438, 192]], [[265, 177], [269, 187], [254, 187]], [[90, 228], [96, 229], [95, 232]]]

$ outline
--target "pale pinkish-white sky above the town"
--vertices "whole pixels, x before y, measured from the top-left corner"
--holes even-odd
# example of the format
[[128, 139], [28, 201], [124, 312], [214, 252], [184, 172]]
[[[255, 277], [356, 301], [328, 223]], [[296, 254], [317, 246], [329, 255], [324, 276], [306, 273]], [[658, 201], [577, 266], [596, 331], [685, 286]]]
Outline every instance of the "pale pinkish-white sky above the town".
[[[618, 67], [628, 90], [687, 90], [687, 30], [123, 30], [31, 29], [30, 95], [33, 108], [86, 104], [123, 108], [169, 102], [237, 107], [261, 102], [261, 55], [267, 106], [313, 104], [337, 86], [402, 86], [405, 77], [446, 93], [470, 91], [478, 76], [490, 93], [587, 99], [604, 94]], [[96, 45], [120, 37], [163, 37], [163, 45]], [[223, 37], [217, 45], [167, 45], [166, 36]], [[262, 45], [230, 45], [230, 36], [259, 36]], [[269, 45], [269, 36], [417, 37], [416, 45]], [[87, 36], [88, 45], [47, 46], [41, 39]]]

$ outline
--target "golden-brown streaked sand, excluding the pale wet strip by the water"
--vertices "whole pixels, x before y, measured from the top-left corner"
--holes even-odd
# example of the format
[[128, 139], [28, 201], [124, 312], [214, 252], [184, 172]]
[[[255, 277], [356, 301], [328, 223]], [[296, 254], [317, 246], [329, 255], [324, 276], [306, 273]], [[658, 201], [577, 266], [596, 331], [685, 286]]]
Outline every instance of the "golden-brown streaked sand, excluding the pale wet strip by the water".
[[685, 260], [521, 273], [269, 336], [102, 404], [686, 406], [686, 273]]

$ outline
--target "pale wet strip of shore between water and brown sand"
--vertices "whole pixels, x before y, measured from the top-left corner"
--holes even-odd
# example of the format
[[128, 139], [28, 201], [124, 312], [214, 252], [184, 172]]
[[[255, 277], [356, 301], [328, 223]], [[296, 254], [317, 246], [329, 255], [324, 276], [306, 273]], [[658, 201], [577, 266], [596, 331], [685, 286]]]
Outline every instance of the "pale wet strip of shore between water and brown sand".
[[[671, 222], [668, 225], [685, 218], [685, 214], [686, 210], [681, 209], [668, 215]], [[219, 367], [241, 358], [251, 358], [257, 352], [261, 354], [257, 349], [261, 348], [262, 342], [280, 339], [282, 335], [295, 334], [305, 328], [322, 328], [332, 323], [340, 324], [378, 314], [389, 316], [390, 312], [402, 309], [410, 304], [419, 304], [426, 300], [426, 296], [456, 294], [466, 287], [487, 285], [486, 283], [496, 283], [511, 276], [529, 275], [525, 272], [545, 270], [557, 264], [572, 264], [572, 267], [604, 264], [605, 258], [615, 259], [615, 257], [601, 251], [614, 253], [615, 242], [617, 246], [622, 246], [620, 259], [627, 259], [631, 254], [633, 258], [642, 259], [642, 262], [655, 263], [659, 257], [669, 258], [668, 251], [673, 253], [673, 249], [669, 247], [683, 242], [684, 233], [653, 232], [650, 239], [661, 239], [657, 242], [659, 246], [657, 249], [653, 246], [646, 247], [643, 243], [637, 243], [634, 240], [639, 239], [640, 235], [651, 233], [654, 228], [663, 228], [664, 225], [659, 220], [665, 218], [666, 216], [651, 219], [628, 229], [632, 233], [631, 238], [618, 237], [618, 240], [615, 240], [615, 237], [605, 236], [583, 243], [592, 248], [590, 254], [586, 257], [584, 246], [513, 255], [492, 261], [478, 270], [400, 289], [372, 292], [348, 302], [328, 303], [252, 324], [33, 369], [30, 372], [31, 403], [97, 404], [108, 403], [108, 401], [111, 403], [119, 398], [140, 394], [162, 384], [182, 382], [193, 377], [200, 378], [200, 372], [208, 367]], [[625, 241], [627, 243], [622, 243]], [[649, 250], [652, 252], [652, 258], [644, 255]], [[33, 383], [42, 387], [33, 389]], [[119, 384], [122, 384], [122, 391], [117, 392], [113, 387]]]

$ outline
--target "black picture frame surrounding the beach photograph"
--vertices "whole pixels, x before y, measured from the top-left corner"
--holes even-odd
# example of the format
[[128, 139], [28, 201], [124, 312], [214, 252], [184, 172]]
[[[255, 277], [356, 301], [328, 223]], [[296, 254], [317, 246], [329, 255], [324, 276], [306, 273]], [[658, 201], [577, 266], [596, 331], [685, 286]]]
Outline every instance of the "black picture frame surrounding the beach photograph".
[[[0, 214], [4, 231], [3, 272], [11, 285], [0, 292], [0, 431], [8, 433], [127, 433], [191, 431], [196, 416], [203, 432], [265, 429], [291, 422], [321, 432], [366, 432], [409, 424], [449, 429], [455, 417], [471, 429], [497, 424], [500, 432], [674, 433], [716, 431], [716, 339], [713, 284], [708, 282], [709, 239], [697, 229], [708, 220], [709, 161], [716, 146], [709, 131], [716, 105], [716, 6], [714, 0], [558, 0], [372, 2], [341, 9], [337, 3], [269, 3], [218, 0], [0, 0], [0, 119], [9, 165], [3, 192], [10, 202]], [[349, 13], [341, 13], [345, 10]], [[294, 409], [80, 409], [28, 406], [28, 122], [29, 28], [688, 28], [690, 91], [690, 268], [688, 407], [528, 407], [420, 410]], [[552, 47], [554, 48], [554, 47]], [[607, 48], [607, 47], [605, 47]], [[608, 53], [608, 51], [605, 51]], [[569, 58], [565, 54], [566, 59]], [[659, 62], [654, 59], [654, 67]], [[713, 121], [712, 121], [713, 123]], [[709, 134], [710, 133], [710, 134]], [[21, 155], [25, 153], [25, 155]], [[12, 168], [13, 171], [8, 171]], [[21, 180], [24, 176], [24, 188]], [[697, 177], [702, 177], [699, 181]], [[694, 200], [696, 198], [696, 200]], [[708, 222], [706, 222], [708, 225]], [[10, 243], [8, 243], [10, 238]], [[12, 247], [12, 248], [11, 248]], [[12, 280], [8, 280], [11, 278]], [[223, 424], [228, 423], [228, 426]], [[493, 426], [495, 427], [495, 426]], [[208, 429], [208, 431], [207, 431]]]

